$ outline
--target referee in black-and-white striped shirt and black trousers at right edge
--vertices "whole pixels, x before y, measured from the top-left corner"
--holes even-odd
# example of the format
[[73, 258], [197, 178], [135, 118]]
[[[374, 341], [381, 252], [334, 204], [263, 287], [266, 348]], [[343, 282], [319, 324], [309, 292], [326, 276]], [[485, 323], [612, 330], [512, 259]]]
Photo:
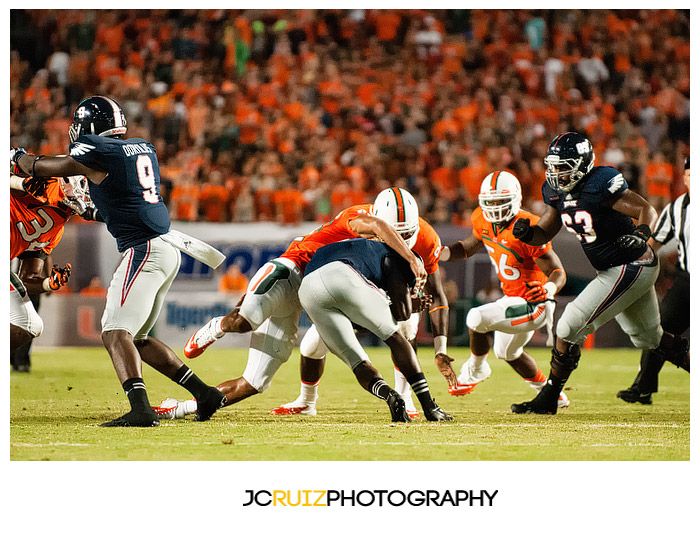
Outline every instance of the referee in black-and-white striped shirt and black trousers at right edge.
[[[673, 276], [673, 284], [666, 292], [660, 308], [661, 327], [676, 336], [681, 335], [690, 326], [690, 157], [685, 159], [683, 182], [687, 192], [666, 205], [649, 240], [655, 251], [672, 238], [678, 243], [678, 266]], [[632, 387], [617, 393], [618, 398], [630, 404], [651, 404], [652, 393], [658, 391], [659, 372], [663, 365], [663, 357], [653, 351], [644, 350], [639, 373]], [[690, 369], [689, 363], [687, 366]]]

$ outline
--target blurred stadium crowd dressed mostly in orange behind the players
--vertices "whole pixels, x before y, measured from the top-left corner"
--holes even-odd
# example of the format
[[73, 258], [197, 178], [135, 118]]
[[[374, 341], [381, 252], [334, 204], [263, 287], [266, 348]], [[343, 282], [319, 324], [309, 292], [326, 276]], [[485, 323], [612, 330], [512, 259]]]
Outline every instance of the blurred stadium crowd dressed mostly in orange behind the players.
[[683, 191], [688, 10], [12, 10], [11, 141], [65, 153], [75, 105], [117, 99], [176, 220], [327, 221], [381, 189], [467, 225], [566, 130], [660, 209]]

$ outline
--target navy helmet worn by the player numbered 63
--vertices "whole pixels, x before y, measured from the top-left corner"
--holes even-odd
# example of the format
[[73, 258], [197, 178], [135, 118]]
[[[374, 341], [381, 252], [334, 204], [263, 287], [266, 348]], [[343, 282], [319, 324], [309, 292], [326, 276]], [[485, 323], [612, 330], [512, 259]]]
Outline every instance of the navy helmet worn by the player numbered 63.
[[595, 154], [588, 138], [577, 132], [559, 134], [549, 144], [545, 177], [556, 191], [570, 192], [593, 168]]

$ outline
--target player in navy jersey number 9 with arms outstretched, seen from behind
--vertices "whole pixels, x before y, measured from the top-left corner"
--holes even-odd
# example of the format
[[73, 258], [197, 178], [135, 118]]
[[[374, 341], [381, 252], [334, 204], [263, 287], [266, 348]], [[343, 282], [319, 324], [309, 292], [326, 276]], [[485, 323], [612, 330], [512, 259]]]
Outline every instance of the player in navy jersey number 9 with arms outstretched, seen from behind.
[[196, 420], [208, 420], [226, 398], [202, 382], [162, 341], [150, 337], [165, 295], [180, 267], [180, 251], [166, 236], [168, 209], [160, 196], [155, 148], [123, 139], [119, 104], [93, 96], [78, 104], [70, 126], [69, 156], [34, 156], [12, 149], [10, 159], [33, 177], [84, 175], [95, 219], [104, 221], [122, 260], [107, 292], [102, 341], [131, 405], [102, 426], [157, 426], [142, 378], [142, 361], [185, 387], [197, 399]]

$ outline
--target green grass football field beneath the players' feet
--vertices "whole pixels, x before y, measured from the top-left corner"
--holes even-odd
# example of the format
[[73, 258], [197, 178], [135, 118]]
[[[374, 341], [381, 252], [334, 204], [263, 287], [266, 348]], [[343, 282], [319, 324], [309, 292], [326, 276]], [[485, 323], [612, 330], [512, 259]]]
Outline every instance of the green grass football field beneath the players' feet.
[[[388, 352], [370, 348], [390, 384]], [[455, 369], [467, 349], [453, 348]], [[545, 374], [549, 352], [533, 349]], [[689, 460], [690, 379], [667, 365], [651, 406], [615, 397], [636, 374], [639, 354], [627, 349], [584, 351], [567, 385], [571, 407], [557, 415], [514, 415], [510, 404], [534, 391], [491, 356], [490, 379], [464, 397], [447, 394], [432, 363], [419, 351], [433, 396], [454, 416], [451, 423], [392, 424], [384, 402], [355, 382], [329, 356], [315, 417], [273, 417], [269, 410], [296, 398], [298, 352], [272, 387], [219, 411], [205, 423], [164, 421], [152, 429], [100, 428], [128, 410], [107, 353], [101, 348], [35, 349], [32, 372], [11, 374], [11, 460]], [[243, 350], [215, 347], [187, 364], [206, 382], [240, 376]], [[152, 403], [189, 398], [147, 367]]]

